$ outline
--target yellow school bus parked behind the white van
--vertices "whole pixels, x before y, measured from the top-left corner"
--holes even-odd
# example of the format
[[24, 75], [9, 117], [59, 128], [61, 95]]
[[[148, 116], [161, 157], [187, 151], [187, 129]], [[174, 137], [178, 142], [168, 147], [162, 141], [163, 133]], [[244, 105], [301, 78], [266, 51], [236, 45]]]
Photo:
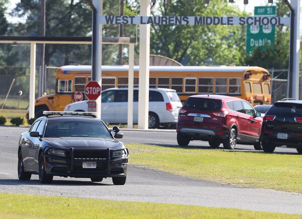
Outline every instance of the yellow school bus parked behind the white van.
[[[138, 68], [134, 67], [134, 87], [138, 87]], [[74, 92], [84, 94], [90, 80], [91, 66], [58, 68], [55, 93], [36, 99], [35, 117], [44, 110], [63, 111], [74, 102]], [[127, 86], [128, 66], [102, 66], [102, 90]], [[150, 66], [149, 87], [175, 89], [182, 102], [194, 94], [238, 96], [252, 105], [271, 101], [270, 74], [261, 67]]]

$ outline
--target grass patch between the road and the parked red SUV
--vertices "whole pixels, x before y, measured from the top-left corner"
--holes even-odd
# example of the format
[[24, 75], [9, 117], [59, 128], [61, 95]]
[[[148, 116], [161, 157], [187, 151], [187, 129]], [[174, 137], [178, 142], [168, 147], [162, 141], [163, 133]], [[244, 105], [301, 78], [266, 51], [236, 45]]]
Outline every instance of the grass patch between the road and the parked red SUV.
[[215, 182], [302, 193], [302, 155], [126, 146], [133, 165]]

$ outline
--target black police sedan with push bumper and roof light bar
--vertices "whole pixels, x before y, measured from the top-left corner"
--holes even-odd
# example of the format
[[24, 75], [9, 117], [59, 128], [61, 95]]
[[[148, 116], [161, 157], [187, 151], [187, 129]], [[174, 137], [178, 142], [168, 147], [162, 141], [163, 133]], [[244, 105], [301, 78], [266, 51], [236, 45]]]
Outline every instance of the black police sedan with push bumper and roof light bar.
[[18, 177], [30, 180], [39, 175], [41, 183], [53, 176], [90, 178], [101, 182], [112, 177], [114, 185], [124, 185], [128, 150], [116, 138], [119, 128], [109, 130], [95, 113], [49, 112], [22, 133], [18, 150]]

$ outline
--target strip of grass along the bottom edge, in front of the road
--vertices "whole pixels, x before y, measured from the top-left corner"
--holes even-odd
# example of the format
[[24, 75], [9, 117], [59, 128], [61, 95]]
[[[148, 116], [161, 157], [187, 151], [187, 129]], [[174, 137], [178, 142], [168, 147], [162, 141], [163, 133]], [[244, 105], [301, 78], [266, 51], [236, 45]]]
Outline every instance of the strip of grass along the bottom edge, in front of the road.
[[231, 208], [0, 193], [1, 218], [301, 218]]

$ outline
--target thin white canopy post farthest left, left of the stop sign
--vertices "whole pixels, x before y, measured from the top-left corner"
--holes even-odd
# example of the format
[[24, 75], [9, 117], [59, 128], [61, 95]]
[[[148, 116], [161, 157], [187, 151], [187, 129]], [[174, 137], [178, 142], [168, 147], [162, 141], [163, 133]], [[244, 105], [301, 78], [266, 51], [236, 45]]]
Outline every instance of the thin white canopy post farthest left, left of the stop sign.
[[30, 43], [29, 119], [35, 118], [36, 43]]

